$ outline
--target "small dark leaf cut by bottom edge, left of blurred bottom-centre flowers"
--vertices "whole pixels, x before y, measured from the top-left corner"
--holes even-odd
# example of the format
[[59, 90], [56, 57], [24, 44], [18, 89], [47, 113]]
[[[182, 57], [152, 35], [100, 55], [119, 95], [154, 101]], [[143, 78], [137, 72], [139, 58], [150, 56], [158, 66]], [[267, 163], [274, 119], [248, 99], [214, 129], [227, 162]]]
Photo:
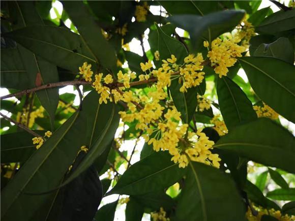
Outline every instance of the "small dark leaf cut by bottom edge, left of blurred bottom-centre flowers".
[[130, 201], [126, 205], [126, 221], [141, 221], [144, 212], [143, 206], [136, 201], [133, 197], [130, 197]]

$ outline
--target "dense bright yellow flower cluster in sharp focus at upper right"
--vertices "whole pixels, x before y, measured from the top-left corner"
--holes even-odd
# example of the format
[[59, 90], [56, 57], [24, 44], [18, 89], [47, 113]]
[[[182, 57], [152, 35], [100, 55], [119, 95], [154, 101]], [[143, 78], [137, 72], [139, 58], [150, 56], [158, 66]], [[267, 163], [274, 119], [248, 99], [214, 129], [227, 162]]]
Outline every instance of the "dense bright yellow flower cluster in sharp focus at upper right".
[[[241, 40], [238, 38], [223, 39], [217, 38], [212, 41], [211, 49], [207, 56], [211, 61], [211, 66], [215, 67], [214, 71], [221, 78], [226, 76], [228, 67], [231, 67], [237, 62], [236, 57], [242, 57], [245, 47], [239, 46], [237, 43]], [[207, 45], [204, 43], [204, 45]]]

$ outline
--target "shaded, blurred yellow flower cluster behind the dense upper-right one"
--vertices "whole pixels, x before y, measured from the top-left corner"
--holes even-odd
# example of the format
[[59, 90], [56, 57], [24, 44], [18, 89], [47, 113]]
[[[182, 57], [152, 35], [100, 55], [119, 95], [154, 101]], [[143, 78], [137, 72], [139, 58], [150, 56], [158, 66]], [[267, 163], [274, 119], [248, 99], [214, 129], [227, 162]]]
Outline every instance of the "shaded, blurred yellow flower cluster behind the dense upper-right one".
[[255, 29], [246, 17], [242, 20], [242, 24], [237, 26], [238, 32], [236, 37], [242, 40], [242, 46], [248, 48], [250, 39], [255, 36]]

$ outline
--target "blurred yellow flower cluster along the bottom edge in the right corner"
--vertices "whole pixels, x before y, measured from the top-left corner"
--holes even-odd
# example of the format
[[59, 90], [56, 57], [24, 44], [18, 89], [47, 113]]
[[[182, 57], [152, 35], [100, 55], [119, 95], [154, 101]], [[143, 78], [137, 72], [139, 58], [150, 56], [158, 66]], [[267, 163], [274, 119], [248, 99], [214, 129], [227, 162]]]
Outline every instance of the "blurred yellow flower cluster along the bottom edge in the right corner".
[[248, 211], [246, 212], [246, 217], [249, 221], [260, 221], [263, 215], [271, 215], [278, 219], [279, 221], [293, 221], [295, 220], [294, 215], [282, 215], [281, 211], [275, 209], [265, 209], [261, 206], [254, 206], [253, 208], [258, 212], [257, 216], [254, 216], [251, 212], [251, 209], [248, 207]]

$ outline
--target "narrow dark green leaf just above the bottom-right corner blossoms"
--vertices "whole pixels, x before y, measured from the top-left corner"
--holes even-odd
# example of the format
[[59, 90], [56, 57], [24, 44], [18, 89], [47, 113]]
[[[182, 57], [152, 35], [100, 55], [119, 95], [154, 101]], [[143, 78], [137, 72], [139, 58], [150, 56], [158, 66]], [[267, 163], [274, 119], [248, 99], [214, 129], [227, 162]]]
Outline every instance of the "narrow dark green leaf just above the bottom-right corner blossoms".
[[246, 180], [244, 191], [247, 193], [247, 197], [253, 203], [256, 203], [264, 208], [274, 208], [275, 210], [280, 210], [280, 207], [273, 201], [264, 197], [259, 188], [251, 183], [249, 180]]

